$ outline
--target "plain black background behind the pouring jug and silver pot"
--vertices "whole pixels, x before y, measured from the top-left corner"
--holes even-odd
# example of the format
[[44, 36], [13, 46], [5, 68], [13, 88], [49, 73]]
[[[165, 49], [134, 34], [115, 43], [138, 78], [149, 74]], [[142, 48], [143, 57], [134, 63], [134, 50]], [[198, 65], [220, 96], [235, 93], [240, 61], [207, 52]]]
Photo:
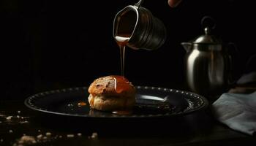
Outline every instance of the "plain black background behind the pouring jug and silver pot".
[[[58, 88], [89, 86], [97, 77], [121, 74], [113, 18], [134, 0], [0, 2], [1, 99], [25, 99]], [[134, 85], [186, 90], [181, 42], [203, 34], [200, 20], [217, 22], [214, 34], [236, 43], [236, 74], [249, 72], [255, 51], [255, 2], [184, 0], [175, 9], [167, 0], [143, 7], [167, 27], [159, 50], [127, 49], [126, 77]]]

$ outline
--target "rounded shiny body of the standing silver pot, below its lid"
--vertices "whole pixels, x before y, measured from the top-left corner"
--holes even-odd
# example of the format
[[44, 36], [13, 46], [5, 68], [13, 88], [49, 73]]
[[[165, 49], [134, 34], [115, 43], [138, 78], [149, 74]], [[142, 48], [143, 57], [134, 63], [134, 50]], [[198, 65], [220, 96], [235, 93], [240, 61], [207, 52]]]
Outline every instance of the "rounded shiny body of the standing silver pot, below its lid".
[[[204, 96], [214, 96], [227, 89], [229, 64], [221, 46], [193, 45], [185, 55], [186, 78], [189, 88]], [[214, 50], [217, 47], [217, 50]]]

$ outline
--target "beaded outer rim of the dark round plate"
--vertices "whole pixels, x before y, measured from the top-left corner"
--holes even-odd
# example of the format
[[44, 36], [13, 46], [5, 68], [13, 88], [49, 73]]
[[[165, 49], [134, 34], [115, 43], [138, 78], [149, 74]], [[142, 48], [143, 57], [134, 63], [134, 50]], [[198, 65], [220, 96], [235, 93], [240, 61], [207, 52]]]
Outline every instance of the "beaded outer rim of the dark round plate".
[[179, 112], [176, 114], [170, 114], [170, 113], [165, 113], [165, 114], [156, 114], [156, 115], [116, 115], [116, 116], [93, 116], [93, 115], [78, 115], [78, 114], [70, 114], [70, 113], [64, 113], [64, 112], [53, 112], [50, 110], [42, 110], [41, 108], [38, 108], [36, 106], [31, 106], [31, 99], [35, 99], [41, 96], [47, 96], [50, 94], [54, 93], [66, 93], [67, 91], [80, 91], [80, 90], [87, 90], [88, 87], [82, 86], [82, 87], [75, 87], [75, 88], [62, 88], [62, 89], [56, 89], [56, 90], [51, 90], [51, 91], [43, 91], [36, 93], [32, 96], [29, 96], [24, 100], [24, 104], [26, 107], [28, 107], [31, 110], [35, 110], [38, 112], [43, 112], [43, 113], [48, 113], [48, 114], [53, 114], [53, 115], [64, 115], [64, 116], [71, 116], [71, 117], [79, 117], [79, 118], [170, 118], [173, 116], [181, 116], [181, 115], [188, 115], [193, 112], [197, 112], [199, 110], [206, 109], [208, 107], [208, 99], [206, 97], [201, 96], [197, 93], [193, 93], [191, 91], [184, 91], [184, 90], [179, 90], [179, 89], [173, 89], [173, 88], [162, 88], [162, 87], [156, 87], [156, 86], [143, 86], [143, 85], [137, 85], [135, 86], [136, 89], [145, 89], [145, 90], [158, 90], [158, 91], [169, 91], [169, 92], [176, 92], [176, 93], [185, 93], [189, 96], [194, 96], [194, 98], [199, 98], [203, 101], [203, 104], [200, 105], [200, 107], [197, 107], [196, 109], [189, 110], [187, 112]]

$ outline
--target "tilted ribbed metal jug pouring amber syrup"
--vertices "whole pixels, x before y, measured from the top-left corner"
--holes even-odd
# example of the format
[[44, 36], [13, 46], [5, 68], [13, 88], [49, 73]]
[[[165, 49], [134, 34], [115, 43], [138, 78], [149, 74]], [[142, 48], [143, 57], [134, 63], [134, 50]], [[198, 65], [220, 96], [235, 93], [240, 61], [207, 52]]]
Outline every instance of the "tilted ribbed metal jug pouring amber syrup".
[[145, 7], [129, 5], [116, 14], [113, 21], [113, 37], [126, 34], [127, 46], [138, 50], [156, 50], [166, 39], [166, 28], [161, 20], [155, 18]]

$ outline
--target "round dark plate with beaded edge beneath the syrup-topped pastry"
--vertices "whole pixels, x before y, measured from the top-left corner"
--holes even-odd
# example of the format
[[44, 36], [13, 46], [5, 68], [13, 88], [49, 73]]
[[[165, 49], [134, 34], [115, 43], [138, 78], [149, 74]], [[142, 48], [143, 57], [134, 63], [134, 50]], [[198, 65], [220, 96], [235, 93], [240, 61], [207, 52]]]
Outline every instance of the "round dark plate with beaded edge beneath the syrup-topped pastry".
[[187, 115], [208, 106], [200, 95], [168, 88], [137, 86], [136, 105], [132, 111], [101, 112], [91, 110], [88, 88], [67, 88], [30, 96], [25, 105], [48, 114], [84, 118], [159, 118]]

